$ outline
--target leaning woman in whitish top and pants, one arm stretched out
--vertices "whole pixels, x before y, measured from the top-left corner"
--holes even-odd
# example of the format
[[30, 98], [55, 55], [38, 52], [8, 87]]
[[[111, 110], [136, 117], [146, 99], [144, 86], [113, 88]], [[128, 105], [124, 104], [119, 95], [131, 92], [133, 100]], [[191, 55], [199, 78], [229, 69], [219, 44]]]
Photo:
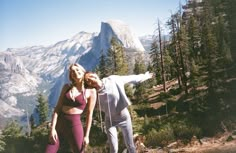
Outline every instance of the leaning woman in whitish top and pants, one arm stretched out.
[[97, 74], [86, 72], [85, 87], [95, 88], [101, 110], [105, 113], [105, 125], [110, 144], [110, 153], [118, 153], [117, 127], [121, 128], [123, 138], [129, 153], [135, 153], [133, 142], [133, 127], [127, 106], [130, 101], [125, 93], [124, 85], [139, 83], [152, 78], [153, 73], [119, 76], [111, 75], [100, 79]]

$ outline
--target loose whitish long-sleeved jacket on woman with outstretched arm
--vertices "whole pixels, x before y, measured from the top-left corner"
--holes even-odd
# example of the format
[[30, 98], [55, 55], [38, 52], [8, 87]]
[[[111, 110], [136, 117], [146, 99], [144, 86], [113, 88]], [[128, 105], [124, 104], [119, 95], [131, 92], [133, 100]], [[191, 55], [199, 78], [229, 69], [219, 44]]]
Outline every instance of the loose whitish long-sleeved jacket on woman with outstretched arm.
[[139, 83], [150, 79], [149, 72], [138, 75], [111, 75], [103, 78], [104, 88], [98, 91], [98, 100], [101, 110], [105, 112], [106, 117], [111, 117], [120, 113], [124, 108], [131, 104], [128, 99], [124, 86], [128, 83]]

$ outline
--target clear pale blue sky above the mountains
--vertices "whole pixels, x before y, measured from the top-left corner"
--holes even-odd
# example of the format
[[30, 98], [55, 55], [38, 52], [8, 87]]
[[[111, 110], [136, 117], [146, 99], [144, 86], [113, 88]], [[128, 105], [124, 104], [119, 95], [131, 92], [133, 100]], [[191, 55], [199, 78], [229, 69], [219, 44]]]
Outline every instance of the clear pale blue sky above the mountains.
[[185, 0], [0, 0], [0, 51], [50, 45], [101, 22], [122, 20], [137, 36], [153, 34]]

